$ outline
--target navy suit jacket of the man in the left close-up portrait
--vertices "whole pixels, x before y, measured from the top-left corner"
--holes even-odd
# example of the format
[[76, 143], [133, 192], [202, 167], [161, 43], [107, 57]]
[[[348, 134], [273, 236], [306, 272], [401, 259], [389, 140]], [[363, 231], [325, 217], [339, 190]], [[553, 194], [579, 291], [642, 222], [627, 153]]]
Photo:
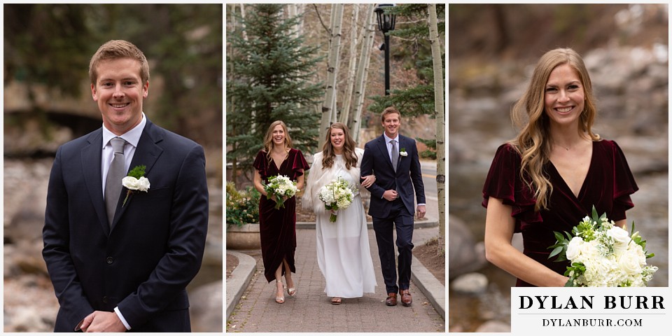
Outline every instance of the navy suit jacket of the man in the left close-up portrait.
[[52, 166], [42, 253], [60, 305], [55, 331], [115, 307], [133, 331], [190, 331], [185, 288], [208, 226], [203, 148], [147, 120], [130, 167], [145, 165], [151, 187], [122, 207], [123, 188], [109, 225], [102, 146], [101, 128], [60, 146]]

